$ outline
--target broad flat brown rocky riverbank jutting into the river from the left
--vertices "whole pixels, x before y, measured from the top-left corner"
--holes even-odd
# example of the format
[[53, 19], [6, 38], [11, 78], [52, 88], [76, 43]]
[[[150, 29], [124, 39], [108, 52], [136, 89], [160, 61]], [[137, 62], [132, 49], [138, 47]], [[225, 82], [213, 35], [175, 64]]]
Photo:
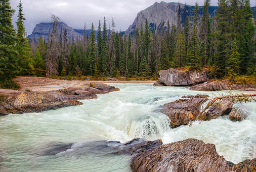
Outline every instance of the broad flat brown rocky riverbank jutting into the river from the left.
[[0, 115], [23, 114], [82, 105], [78, 100], [118, 91], [114, 86], [88, 81], [18, 77], [19, 90], [0, 89]]

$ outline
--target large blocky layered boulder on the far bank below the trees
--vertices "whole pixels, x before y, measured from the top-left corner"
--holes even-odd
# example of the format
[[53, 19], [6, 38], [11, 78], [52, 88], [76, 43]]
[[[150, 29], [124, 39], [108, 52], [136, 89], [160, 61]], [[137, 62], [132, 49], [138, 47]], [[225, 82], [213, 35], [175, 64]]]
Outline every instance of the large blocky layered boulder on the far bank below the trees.
[[168, 69], [159, 72], [159, 83], [166, 86], [193, 86], [208, 81], [207, 71], [198, 72], [187, 69]]

